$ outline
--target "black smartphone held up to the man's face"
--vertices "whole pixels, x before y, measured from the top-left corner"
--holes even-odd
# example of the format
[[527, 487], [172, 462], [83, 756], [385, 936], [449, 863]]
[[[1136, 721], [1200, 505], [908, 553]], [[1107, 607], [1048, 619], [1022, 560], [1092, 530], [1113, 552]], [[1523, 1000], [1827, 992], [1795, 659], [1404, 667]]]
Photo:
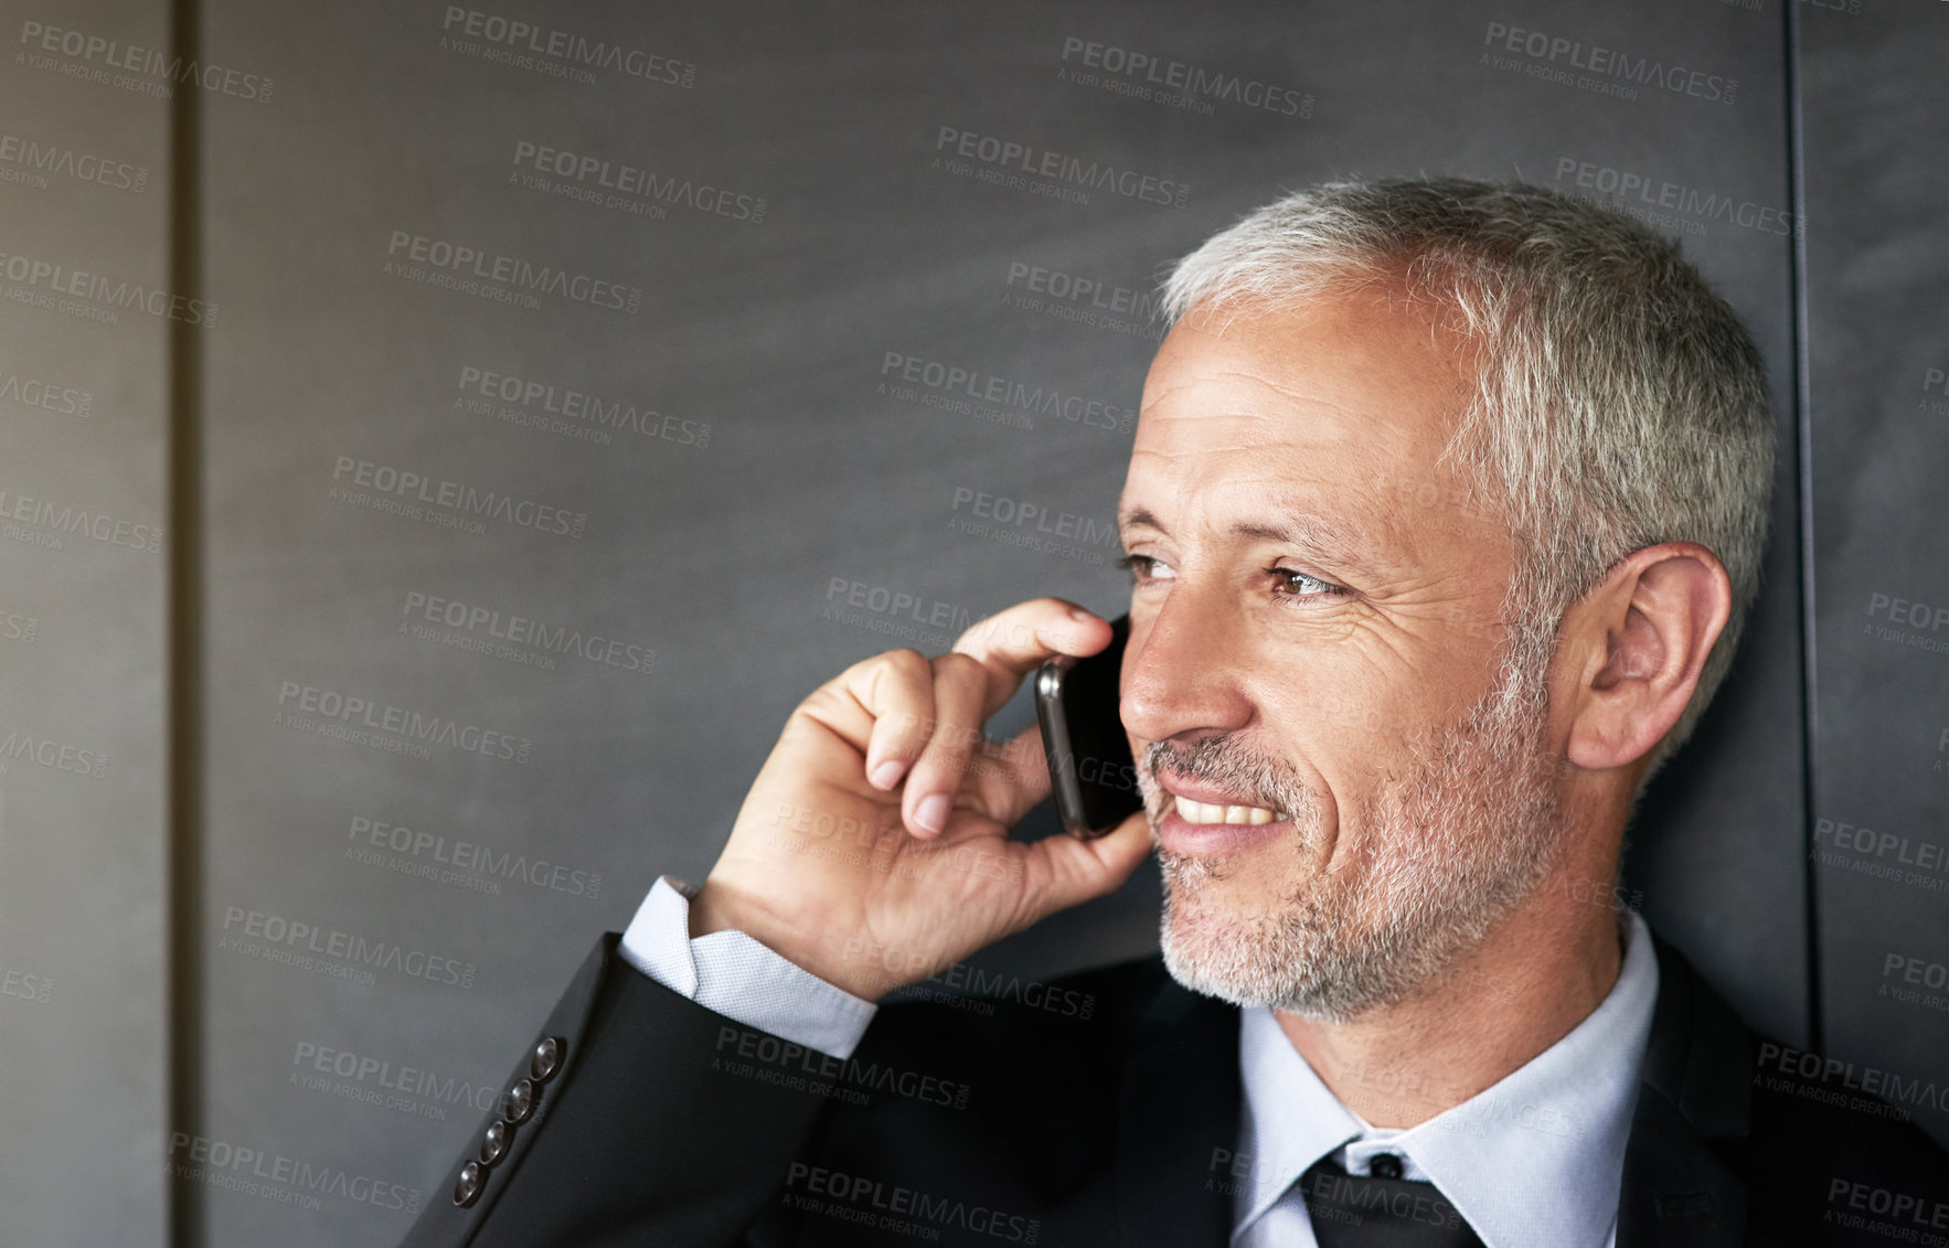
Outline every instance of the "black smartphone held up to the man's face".
[[1117, 677], [1130, 616], [1109, 622], [1109, 645], [1088, 659], [1062, 655], [1035, 673], [1035, 718], [1049, 753], [1056, 815], [1076, 837], [1101, 837], [1144, 809], [1130, 739], [1117, 718]]

